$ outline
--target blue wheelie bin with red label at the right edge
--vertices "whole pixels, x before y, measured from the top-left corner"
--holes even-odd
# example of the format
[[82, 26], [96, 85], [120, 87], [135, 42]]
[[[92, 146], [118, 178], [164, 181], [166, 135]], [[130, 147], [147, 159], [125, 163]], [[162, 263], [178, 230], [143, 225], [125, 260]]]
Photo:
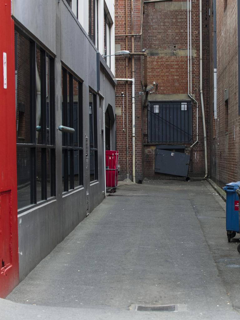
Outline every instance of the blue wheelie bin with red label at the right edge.
[[239, 233], [239, 198], [236, 193], [236, 189], [240, 186], [240, 181], [231, 182], [226, 184], [223, 187], [223, 190], [226, 191], [226, 230], [228, 236], [228, 242], [231, 241], [231, 238], [236, 236], [236, 233]]

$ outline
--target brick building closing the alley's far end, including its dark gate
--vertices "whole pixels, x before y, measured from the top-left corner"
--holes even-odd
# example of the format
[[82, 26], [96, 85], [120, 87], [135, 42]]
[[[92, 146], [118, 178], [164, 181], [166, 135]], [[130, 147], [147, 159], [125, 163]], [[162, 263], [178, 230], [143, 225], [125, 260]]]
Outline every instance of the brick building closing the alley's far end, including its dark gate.
[[[205, 156], [209, 157], [206, 145], [209, 146], [210, 131], [209, 1], [202, 1], [202, 10], [200, 3], [195, 0], [115, 2], [116, 51], [147, 54], [147, 83], [143, 56], [116, 56], [116, 78], [122, 79], [116, 86], [116, 146], [121, 180], [128, 177], [134, 180], [134, 175], [136, 182], [166, 176], [166, 171], [156, 170], [158, 148], [171, 151], [170, 155], [175, 152], [189, 155], [189, 176], [208, 174]], [[132, 78], [135, 80], [135, 110], [132, 108], [132, 83], [123, 80]], [[150, 89], [146, 91], [146, 87]], [[205, 136], [208, 137], [205, 139], [202, 105]], [[132, 110], [135, 111], [133, 138]], [[168, 177], [171, 173], [176, 176], [172, 167], [167, 173]]]

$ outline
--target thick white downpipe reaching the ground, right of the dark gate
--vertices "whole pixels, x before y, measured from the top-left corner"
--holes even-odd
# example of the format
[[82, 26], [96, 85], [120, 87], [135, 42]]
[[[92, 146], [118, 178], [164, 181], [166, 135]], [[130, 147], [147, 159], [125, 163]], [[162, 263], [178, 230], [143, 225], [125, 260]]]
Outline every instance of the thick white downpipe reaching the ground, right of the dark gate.
[[199, 0], [199, 20], [200, 20], [200, 96], [203, 115], [203, 135], [204, 135], [204, 155], [205, 155], [205, 176], [207, 178], [207, 136], [206, 136], [206, 124], [204, 114], [204, 101], [203, 101], [203, 30], [202, 30], [202, 0]]

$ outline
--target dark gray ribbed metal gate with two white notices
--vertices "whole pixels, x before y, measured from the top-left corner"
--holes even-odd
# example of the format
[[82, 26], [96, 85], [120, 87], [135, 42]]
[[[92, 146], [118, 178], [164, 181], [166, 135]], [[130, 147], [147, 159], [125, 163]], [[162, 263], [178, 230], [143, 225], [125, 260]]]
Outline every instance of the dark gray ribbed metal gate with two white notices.
[[148, 104], [149, 143], [191, 143], [191, 101], [161, 101]]

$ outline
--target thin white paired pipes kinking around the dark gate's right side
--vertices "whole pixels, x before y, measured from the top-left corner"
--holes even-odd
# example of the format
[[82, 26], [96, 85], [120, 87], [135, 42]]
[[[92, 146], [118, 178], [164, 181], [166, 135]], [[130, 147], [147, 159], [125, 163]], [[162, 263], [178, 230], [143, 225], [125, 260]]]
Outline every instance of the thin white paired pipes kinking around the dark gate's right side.
[[[190, 6], [191, 6], [190, 2]], [[188, 0], [188, 96], [191, 100], [193, 100], [196, 103], [197, 109], [196, 109], [196, 135], [197, 139], [196, 141], [190, 146], [190, 148], [193, 148], [195, 144], [198, 142], [198, 102], [193, 98], [192, 96], [192, 22], [191, 22], [192, 16], [190, 15], [190, 55], [191, 55], [191, 94], [190, 92], [190, 86], [189, 86], [189, 0]]]

